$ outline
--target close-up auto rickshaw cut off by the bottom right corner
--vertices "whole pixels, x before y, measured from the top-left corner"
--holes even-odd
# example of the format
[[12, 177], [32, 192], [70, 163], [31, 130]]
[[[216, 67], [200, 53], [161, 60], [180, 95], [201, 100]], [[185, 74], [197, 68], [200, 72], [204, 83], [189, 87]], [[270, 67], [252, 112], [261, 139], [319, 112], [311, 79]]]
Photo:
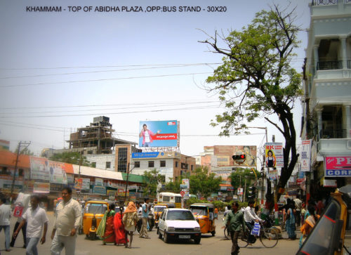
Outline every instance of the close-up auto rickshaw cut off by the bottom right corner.
[[331, 202], [326, 206], [324, 213], [296, 254], [340, 255], [344, 251], [350, 254], [350, 240], [345, 240], [345, 231], [351, 228], [350, 194], [350, 184], [331, 193]]

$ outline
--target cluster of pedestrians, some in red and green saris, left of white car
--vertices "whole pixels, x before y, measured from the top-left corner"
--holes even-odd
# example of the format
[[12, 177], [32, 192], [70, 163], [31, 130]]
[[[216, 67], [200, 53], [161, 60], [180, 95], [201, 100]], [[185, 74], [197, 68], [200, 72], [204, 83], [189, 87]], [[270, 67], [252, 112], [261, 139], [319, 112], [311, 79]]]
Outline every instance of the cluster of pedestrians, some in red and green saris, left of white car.
[[97, 230], [97, 235], [100, 236], [103, 244], [124, 244], [124, 247], [131, 248], [133, 233], [140, 220], [138, 211], [141, 211], [141, 220], [143, 221], [139, 237], [149, 239], [150, 237], [147, 235], [148, 203], [149, 200], [145, 199], [143, 206], [139, 210], [139, 208], [135, 207], [134, 202], [128, 202], [126, 210], [124, 210], [124, 207], [119, 207], [117, 213], [115, 212], [115, 204], [110, 204]]

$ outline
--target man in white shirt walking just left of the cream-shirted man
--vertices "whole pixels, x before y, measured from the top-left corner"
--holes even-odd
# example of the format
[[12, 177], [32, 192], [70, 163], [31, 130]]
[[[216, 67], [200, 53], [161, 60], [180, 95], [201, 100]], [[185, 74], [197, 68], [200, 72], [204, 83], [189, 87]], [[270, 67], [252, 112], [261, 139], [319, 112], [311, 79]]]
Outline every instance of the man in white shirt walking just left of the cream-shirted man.
[[48, 216], [46, 216], [46, 212], [44, 209], [38, 206], [39, 197], [37, 195], [32, 195], [30, 197], [30, 205], [31, 207], [25, 211], [25, 214], [22, 215], [22, 222], [18, 226], [15, 233], [13, 233], [14, 237], [17, 237], [21, 228], [27, 222], [27, 230], [26, 230], [26, 254], [37, 255], [37, 244], [39, 242], [41, 236], [41, 230], [44, 227], [44, 233], [41, 237], [40, 243], [44, 244], [46, 241], [46, 231], [48, 230]]

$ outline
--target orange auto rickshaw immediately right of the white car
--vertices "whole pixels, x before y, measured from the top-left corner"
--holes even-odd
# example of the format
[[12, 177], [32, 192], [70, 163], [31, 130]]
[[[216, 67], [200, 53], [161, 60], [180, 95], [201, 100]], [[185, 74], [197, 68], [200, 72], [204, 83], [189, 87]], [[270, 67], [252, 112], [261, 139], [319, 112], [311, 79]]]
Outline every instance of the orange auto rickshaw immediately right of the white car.
[[196, 218], [197, 222], [199, 222], [202, 234], [211, 233], [212, 236], [216, 235], [213, 204], [191, 204], [190, 211], [192, 211], [192, 214], [194, 214], [194, 217]]

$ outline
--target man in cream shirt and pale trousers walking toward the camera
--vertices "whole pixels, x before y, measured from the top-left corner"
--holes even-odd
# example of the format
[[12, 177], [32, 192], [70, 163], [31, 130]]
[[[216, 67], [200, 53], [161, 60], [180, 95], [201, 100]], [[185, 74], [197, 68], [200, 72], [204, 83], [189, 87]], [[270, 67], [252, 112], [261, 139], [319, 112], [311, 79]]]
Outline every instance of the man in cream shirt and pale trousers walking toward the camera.
[[62, 202], [56, 207], [56, 220], [51, 233], [51, 255], [60, 255], [65, 247], [66, 255], [74, 255], [77, 230], [81, 225], [81, 206], [72, 199], [72, 189], [62, 189]]

